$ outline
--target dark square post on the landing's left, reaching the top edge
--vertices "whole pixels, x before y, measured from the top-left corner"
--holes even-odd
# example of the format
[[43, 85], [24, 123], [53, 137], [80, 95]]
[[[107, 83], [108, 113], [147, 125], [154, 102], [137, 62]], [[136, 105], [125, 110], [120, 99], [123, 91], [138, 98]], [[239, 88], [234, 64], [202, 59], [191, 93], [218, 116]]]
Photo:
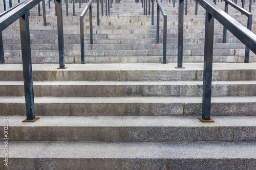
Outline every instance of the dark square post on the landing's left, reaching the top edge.
[[[61, 0], [55, 0], [57, 8], [57, 29], [58, 29], [58, 46], [59, 46], [59, 68], [65, 67], [64, 55], [64, 38], [63, 38], [63, 20], [62, 20], [62, 3]], [[74, 2], [74, 0], [73, 0]]]

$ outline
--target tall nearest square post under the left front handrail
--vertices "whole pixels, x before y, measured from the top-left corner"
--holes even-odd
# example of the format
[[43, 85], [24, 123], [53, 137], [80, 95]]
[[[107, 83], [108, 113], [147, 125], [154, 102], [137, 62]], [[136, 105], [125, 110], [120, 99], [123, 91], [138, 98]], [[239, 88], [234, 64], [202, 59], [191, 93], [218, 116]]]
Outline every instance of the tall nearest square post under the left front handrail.
[[31, 47], [29, 34], [28, 11], [19, 18], [20, 41], [22, 44], [23, 79], [26, 101], [27, 120], [35, 119], [35, 103], [31, 62]]

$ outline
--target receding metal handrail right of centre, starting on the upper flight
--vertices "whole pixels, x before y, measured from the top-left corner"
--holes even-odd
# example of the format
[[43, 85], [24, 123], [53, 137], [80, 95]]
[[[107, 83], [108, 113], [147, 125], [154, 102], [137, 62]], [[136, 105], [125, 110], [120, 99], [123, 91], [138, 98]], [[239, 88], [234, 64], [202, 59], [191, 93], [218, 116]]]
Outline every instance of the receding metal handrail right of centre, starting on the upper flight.
[[[163, 6], [159, 0], [157, 2], [157, 43], [159, 43], [159, 15], [160, 11], [163, 15], [163, 64], [166, 64], [166, 36], [167, 36], [167, 14], [165, 13]], [[152, 3], [152, 23], [154, 24], [154, 3]]]

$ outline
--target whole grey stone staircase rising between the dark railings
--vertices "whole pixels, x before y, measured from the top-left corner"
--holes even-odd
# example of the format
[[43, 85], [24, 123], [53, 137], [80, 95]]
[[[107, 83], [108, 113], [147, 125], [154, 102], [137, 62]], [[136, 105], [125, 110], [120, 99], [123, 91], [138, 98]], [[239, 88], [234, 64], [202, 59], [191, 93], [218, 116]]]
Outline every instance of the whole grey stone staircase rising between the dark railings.
[[[22, 123], [26, 110], [19, 23], [3, 32], [8, 64], [0, 65], [0, 126], [4, 129], [8, 116], [9, 157], [8, 168], [1, 163], [0, 169], [255, 169], [255, 54], [250, 53], [250, 64], [242, 63], [245, 46], [230, 33], [228, 43], [222, 43], [223, 27], [216, 21], [211, 99], [215, 123], [201, 123], [197, 117], [202, 112], [205, 11], [199, 6], [194, 15], [195, 3], [188, 3], [185, 68], [177, 69], [178, 9], [162, 4], [168, 19], [168, 64], [161, 64], [163, 21], [157, 44], [156, 21], [152, 26], [140, 3], [125, 0], [113, 4], [111, 16], [100, 16], [100, 26], [93, 4], [94, 43], [85, 17], [87, 64], [79, 64], [78, 16], [86, 4], [81, 9], [75, 4], [76, 16], [72, 5], [66, 16], [63, 5], [67, 69], [56, 69], [54, 8], [46, 8], [48, 26], [33, 8], [32, 69], [35, 113], [40, 117], [35, 123]], [[229, 13], [246, 25], [245, 16], [231, 7]], [[1, 162], [4, 154], [1, 149]]]

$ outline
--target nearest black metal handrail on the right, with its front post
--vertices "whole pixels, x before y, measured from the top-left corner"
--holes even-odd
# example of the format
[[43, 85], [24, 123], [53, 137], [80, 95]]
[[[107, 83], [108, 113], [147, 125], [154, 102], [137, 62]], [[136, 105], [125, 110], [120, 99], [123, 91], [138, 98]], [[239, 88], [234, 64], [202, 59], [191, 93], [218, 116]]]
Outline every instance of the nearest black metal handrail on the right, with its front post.
[[[180, 0], [181, 1], [181, 0]], [[214, 46], [214, 18], [256, 54], [256, 35], [208, 0], [196, 0], [205, 10], [203, 108], [201, 121], [210, 121], [211, 77]]]

